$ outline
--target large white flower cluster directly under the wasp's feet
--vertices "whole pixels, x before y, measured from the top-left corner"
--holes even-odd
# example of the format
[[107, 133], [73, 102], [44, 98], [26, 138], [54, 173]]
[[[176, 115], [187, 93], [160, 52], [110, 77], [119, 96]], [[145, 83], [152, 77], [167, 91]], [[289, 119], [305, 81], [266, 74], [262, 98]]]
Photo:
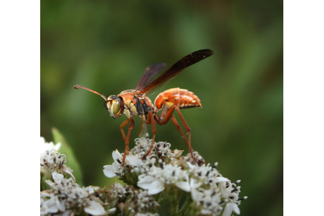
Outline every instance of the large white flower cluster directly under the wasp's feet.
[[[163, 192], [163, 196], [173, 201], [180, 200], [182, 193], [190, 193], [192, 205], [188, 211], [196, 214], [230, 216], [232, 212], [240, 214], [238, 205], [240, 187], [239, 181], [231, 183], [222, 177], [213, 166], [205, 164], [203, 158], [194, 152], [198, 164], [194, 163], [190, 154], [181, 156], [183, 151], [171, 150], [171, 144], [154, 143], [152, 151], [145, 157], [152, 140], [140, 138], [135, 140], [135, 147], [126, 155], [125, 166], [122, 166], [123, 154], [118, 150], [113, 152], [114, 163], [104, 166], [107, 177], [117, 176], [125, 182], [147, 190], [148, 195]], [[172, 201], [171, 201], [172, 202]], [[225, 208], [224, 208], [225, 207]], [[191, 209], [191, 210], [190, 210]]]

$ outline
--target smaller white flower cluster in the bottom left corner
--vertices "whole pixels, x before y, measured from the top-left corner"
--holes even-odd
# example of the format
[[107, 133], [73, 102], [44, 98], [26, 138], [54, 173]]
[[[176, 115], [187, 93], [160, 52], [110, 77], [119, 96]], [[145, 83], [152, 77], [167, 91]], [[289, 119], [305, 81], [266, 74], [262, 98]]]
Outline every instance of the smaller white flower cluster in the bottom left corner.
[[71, 178], [65, 179], [57, 172], [53, 172], [52, 177], [54, 182], [45, 180], [51, 189], [41, 191], [41, 216], [70, 216], [82, 212], [94, 216], [106, 215], [103, 203], [92, 196], [98, 187], [80, 188]]

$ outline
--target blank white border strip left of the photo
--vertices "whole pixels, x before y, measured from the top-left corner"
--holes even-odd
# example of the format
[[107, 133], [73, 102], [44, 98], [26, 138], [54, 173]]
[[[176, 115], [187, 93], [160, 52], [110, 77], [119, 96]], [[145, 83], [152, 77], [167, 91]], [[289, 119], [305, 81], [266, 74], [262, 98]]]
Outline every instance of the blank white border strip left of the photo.
[[40, 1], [0, 7], [1, 215], [39, 214]]

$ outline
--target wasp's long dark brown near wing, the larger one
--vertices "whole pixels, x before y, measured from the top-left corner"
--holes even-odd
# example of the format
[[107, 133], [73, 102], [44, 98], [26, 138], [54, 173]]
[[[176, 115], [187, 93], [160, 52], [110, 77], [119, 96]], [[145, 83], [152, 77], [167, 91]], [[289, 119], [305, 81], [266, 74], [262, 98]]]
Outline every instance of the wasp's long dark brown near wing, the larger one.
[[185, 68], [213, 55], [212, 50], [198, 50], [194, 53], [185, 56], [176, 62], [166, 72], [162, 73], [159, 77], [154, 79], [150, 84], [143, 88], [140, 94], [153, 94], [155, 91], [163, 87], [168, 81], [173, 79], [178, 73], [182, 72]]

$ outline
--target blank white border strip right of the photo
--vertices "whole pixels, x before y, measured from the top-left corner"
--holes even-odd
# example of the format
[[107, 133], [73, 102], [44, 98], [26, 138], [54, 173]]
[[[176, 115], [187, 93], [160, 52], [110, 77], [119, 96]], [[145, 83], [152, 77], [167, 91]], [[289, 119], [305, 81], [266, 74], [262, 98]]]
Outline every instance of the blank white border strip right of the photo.
[[284, 1], [285, 215], [323, 215], [323, 8]]

